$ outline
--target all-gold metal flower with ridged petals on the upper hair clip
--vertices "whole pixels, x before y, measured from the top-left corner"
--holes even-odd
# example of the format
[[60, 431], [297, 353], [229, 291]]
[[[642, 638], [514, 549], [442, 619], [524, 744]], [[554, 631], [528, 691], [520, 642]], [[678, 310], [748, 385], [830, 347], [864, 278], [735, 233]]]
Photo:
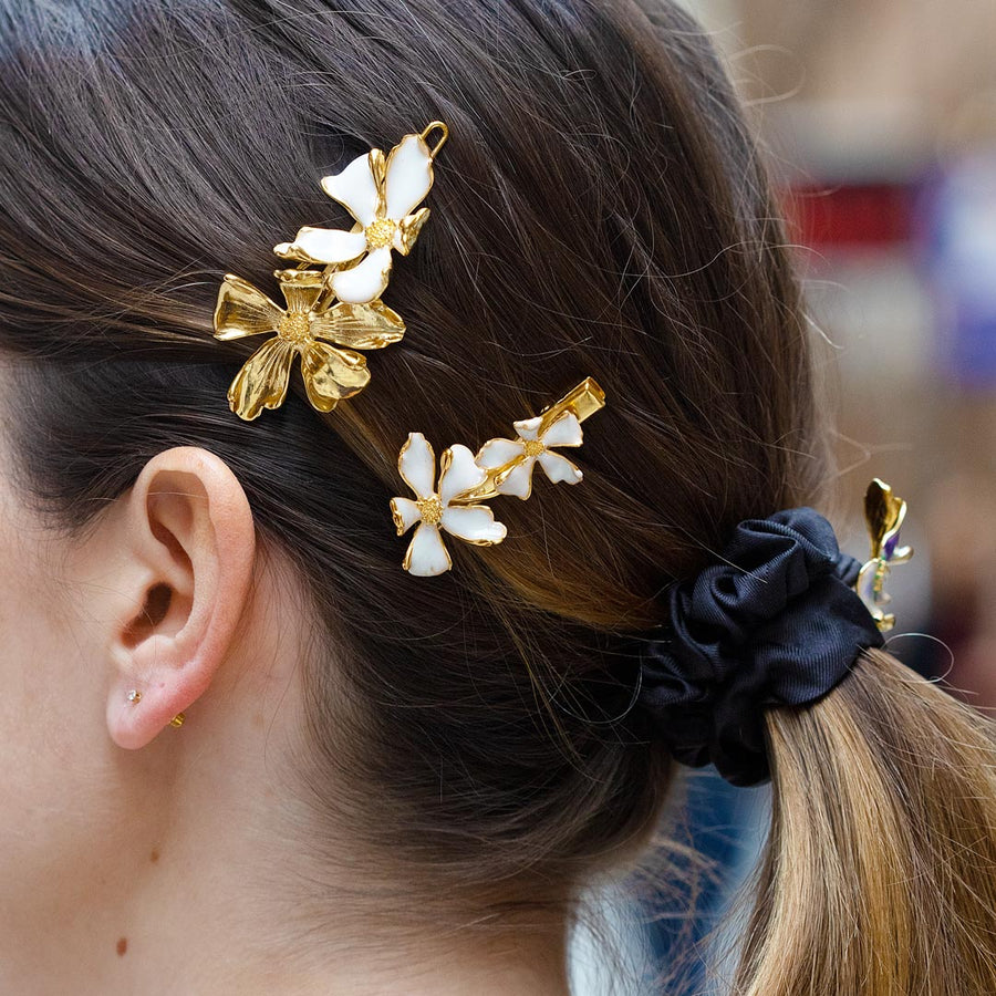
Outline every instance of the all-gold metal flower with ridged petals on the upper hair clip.
[[308, 400], [319, 412], [331, 412], [370, 381], [366, 359], [356, 350], [378, 350], [405, 334], [401, 317], [380, 299], [328, 307], [320, 271], [274, 270], [274, 276], [287, 308], [241, 277], [226, 273], [215, 309], [216, 339], [276, 333], [246, 361], [228, 388], [231, 411], [247, 422], [263, 408], [283, 404], [295, 355], [301, 356]]

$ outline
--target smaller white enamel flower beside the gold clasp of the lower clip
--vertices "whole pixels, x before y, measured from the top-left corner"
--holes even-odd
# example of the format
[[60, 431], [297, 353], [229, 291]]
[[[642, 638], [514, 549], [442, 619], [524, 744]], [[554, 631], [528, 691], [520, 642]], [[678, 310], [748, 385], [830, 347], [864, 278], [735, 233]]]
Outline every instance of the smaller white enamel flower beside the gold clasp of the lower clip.
[[537, 460], [547, 477], [558, 484], [578, 484], [581, 471], [566, 456], [553, 453], [551, 446], [580, 446], [581, 423], [573, 412], [564, 412], [539, 435], [543, 416], [512, 423], [517, 439], [489, 439], [481, 446], [476, 461], [486, 470], [498, 470], [513, 464], [507, 476], [498, 475], [496, 488], [502, 495], [526, 499], [532, 494], [532, 467]]

